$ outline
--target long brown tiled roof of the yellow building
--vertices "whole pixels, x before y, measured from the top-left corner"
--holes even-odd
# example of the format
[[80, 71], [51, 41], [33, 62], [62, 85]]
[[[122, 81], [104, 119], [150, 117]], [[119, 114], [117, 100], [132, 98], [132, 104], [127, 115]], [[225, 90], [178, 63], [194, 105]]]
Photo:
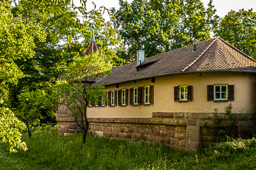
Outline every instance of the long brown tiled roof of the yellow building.
[[145, 59], [139, 67], [136, 62], [113, 67], [111, 76], [97, 83], [111, 85], [125, 81], [139, 80], [154, 76], [194, 71], [255, 71], [256, 60], [237, 50], [220, 37], [202, 41], [171, 52]]

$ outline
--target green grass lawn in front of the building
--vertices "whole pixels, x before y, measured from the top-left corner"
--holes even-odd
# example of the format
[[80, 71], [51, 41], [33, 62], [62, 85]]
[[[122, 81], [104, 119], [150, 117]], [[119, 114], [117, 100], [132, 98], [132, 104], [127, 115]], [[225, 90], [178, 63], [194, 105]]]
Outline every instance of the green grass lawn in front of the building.
[[213, 159], [207, 150], [178, 152], [168, 146], [134, 143], [82, 134], [58, 136], [57, 132], [24, 134], [26, 152], [8, 153], [0, 143], [0, 169], [256, 169], [256, 152]]

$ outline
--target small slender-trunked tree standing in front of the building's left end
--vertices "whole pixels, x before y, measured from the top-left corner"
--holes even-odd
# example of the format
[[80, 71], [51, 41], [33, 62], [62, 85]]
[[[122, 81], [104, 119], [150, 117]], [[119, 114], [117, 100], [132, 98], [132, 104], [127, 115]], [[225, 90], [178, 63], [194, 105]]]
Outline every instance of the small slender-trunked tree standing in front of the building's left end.
[[87, 106], [99, 102], [100, 97], [106, 98], [102, 85], [95, 82], [111, 73], [111, 64], [104, 59], [104, 53], [93, 53], [84, 57], [74, 57], [74, 62], [67, 67], [67, 74], [62, 80], [56, 81], [56, 94], [59, 103], [67, 106], [75, 118], [76, 125], [83, 130], [83, 143], [89, 123]]

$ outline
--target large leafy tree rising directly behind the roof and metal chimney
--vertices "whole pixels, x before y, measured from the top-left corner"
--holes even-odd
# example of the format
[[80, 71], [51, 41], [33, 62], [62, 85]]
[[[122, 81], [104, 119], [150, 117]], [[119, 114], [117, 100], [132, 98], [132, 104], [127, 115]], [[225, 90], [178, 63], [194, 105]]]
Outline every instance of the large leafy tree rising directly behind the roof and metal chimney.
[[140, 48], [151, 57], [210, 39], [211, 24], [218, 18], [212, 1], [207, 9], [195, 0], [134, 0], [131, 4], [120, 0], [119, 4], [113, 20], [122, 43], [128, 46], [128, 52], [122, 53], [126, 60], [134, 60]]

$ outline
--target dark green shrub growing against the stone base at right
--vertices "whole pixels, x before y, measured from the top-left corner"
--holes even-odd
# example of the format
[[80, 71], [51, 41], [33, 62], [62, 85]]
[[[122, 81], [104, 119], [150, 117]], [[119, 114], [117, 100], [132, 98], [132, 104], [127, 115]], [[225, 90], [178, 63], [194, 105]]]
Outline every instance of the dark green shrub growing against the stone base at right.
[[250, 114], [243, 114], [243, 110], [240, 113], [233, 113], [232, 103], [225, 106], [225, 112], [219, 113], [218, 109], [214, 109], [214, 117], [211, 122], [208, 120], [200, 120], [204, 122], [204, 128], [212, 132], [212, 136], [224, 138], [225, 136], [232, 136], [234, 130], [237, 127], [239, 121], [246, 120]]

